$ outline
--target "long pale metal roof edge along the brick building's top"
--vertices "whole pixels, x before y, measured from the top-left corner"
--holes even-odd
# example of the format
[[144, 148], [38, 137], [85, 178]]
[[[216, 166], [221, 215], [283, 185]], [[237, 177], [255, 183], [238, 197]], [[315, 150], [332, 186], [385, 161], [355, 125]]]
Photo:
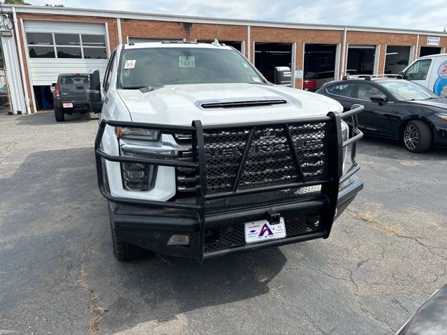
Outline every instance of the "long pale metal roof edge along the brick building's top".
[[261, 20], [244, 20], [230, 19], [221, 17], [200, 17], [188, 15], [170, 15], [156, 13], [141, 13], [125, 10], [107, 10], [107, 9], [91, 9], [91, 8], [68, 8], [68, 7], [52, 7], [52, 6], [27, 6], [27, 5], [10, 5], [2, 4], [3, 10], [15, 8], [17, 13], [38, 13], [52, 15], [79, 15], [79, 16], [96, 16], [96, 17], [113, 17], [120, 19], [133, 20], [156, 20], [156, 21], [172, 21], [172, 22], [191, 22], [191, 23], [208, 23], [208, 24], [233, 24], [254, 27], [277, 27], [289, 29], [318, 29], [318, 30], [339, 30], [349, 31], [369, 31], [379, 33], [394, 34], [429, 34], [434, 36], [447, 36], [446, 31], [427, 31], [417, 29], [399, 29], [385, 27], [362, 27], [341, 24], [313, 24], [313, 23], [296, 23], [296, 22], [278, 22], [278, 21], [261, 21]]

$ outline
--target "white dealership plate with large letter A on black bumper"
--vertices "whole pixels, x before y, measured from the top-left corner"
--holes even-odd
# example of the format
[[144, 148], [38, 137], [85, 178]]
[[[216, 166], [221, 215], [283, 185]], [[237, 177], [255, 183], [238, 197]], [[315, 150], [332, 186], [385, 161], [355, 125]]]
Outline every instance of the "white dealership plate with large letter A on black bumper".
[[284, 239], [284, 237], [286, 237], [284, 218], [281, 218], [277, 225], [270, 225], [267, 220], [245, 223], [246, 243], [268, 241], [270, 239]]

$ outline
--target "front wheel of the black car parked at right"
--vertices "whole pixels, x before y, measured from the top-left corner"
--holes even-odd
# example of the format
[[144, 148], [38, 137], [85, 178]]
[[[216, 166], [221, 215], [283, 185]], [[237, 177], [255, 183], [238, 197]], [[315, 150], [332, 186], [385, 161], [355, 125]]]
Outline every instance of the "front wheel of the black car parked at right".
[[404, 144], [411, 152], [428, 151], [432, 145], [430, 127], [424, 121], [409, 121], [404, 128]]

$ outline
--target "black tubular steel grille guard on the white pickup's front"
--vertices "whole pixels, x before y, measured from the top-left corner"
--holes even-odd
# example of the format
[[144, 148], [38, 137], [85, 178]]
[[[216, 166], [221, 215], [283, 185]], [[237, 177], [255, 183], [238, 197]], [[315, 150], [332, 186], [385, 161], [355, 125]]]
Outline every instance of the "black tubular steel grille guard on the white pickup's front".
[[[321, 185], [321, 195], [314, 198], [309, 198], [306, 202], [302, 200], [300, 203], [295, 202], [293, 204], [284, 204], [280, 208], [284, 207], [285, 211], [293, 211], [293, 209], [303, 208], [305, 209], [305, 203], [312, 204], [314, 209], [321, 211], [321, 227], [324, 228], [324, 237], [328, 237], [332, 228], [332, 221], [335, 218], [337, 207], [337, 196], [339, 193], [339, 184], [346, 179], [349, 179], [359, 169], [360, 165], [356, 160], [356, 142], [362, 138], [363, 134], [358, 129], [357, 114], [363, 110], [361, 105], [353, 105], [353, 108], [349, 112], [338, 114], [334, 112], [328, 113], [326, 117], [290, 120], [290, 121], [277, 121], [277, 122], [254, 122], [250, 124], [224, 124], [224, 125], [212, 125], [203, 126], [200, 121], [193, 121], [191, 126], [171, 126], [160, 124], [146, 124], [139, 122], [129, 121], [112, 121], [108, 119], [101, 120], [98, 128], [98, 133], [95, 139], [95, 154], [96, 154], [96, 172], [98, 175], [98, 188], [101, 194], [111, 202], [117, 202], [120, 204], [131, 205], [145, 205], [152, 208], [168, 208], [168, 209], [185, 209], [196, 211], [198, 217], [198, 224], [200, 230], [200, 246], [205, 243], [205, 202], [207, 200], [235, 197], [237, 195], [248, 195], [254, 193], [261, 193], [265, 191], [281, 191], [291, 188], [302, 188], [306, 186]], [[353, 130], [352, 136], [348, 140], [342, 142], [342, 128], [341, 119], [351, 117]], [[326, 146], [324, 151], [324, 165], [326, 168], [322, 168], [323, 172], [312, 174], [309, 178], [308, 174], [303, 173], [306, 170], [302, 166], [300, 161], [300, 147], [296, 143], [296, 130], [305, 129], [307, 125], [324, 125], [324, 138], [321, 135], [318, 137], [318, 141], [323, 141], [323, 147]], [[112, 156], [101, 150], [101, 140], [106, 126], [112, 127], [129, 127], [129, 128], [147, 128], [161, 131], [161, 133], [168, 133], [175, 136], [175, 133], [191, 134], [192, 137], [192, 161], [182, 161], [179, 159], [161, 159], [161, 158], [147, 158], [147, 157], [132, 157], [132, 156]], [[304, 127], [304, 128], [303, 128]], [[312, 128], [312, 127], [311, 127]], [[217, 132], [231, 133], [234, 131], [244, 131], [247, 135], [243, 152], [240, 153], [240, 160], [235, 168], [235, 178], [233, 184], [230, 185], [230, 189], [215, 189], [210, 192], [208, 190], [207, 183], [207, 159], [210, 159], [210, 147], [205, 150], [205, 138], [209, 140], [210, 136], [216, 135]], [[287, 156], [291, 158], [290, 164], [293, 164], [295, 171], [293, 172], [293, 178], [290, 180], [281, 179], [275, 182], [272, 176], [269, 180], [272, 182], [266, 183], [267, 186], [252, 186], [247, 187], [250, 184], [242, 184], [243, 179], [247, 179], [244, 174], [248, 165], [254, 165], [258, 163], [256, 161], [256, 153], [251, 151], [254, 141], [260, 141], [260, 131], [276, 131], [284, 136], [284, 141], [281, 144], [282, 149], [286, 143], [288, 149]], [[295, 133], [295, 135], [293, 135]], [[211, 134], [211, 135], [210, 135]], [[264, 134], [264, 133], [263, 133]], [[265, 135], [265, 134], [264, 134]], [[256, 140], [255, 140], [256, 139]], [[269, 137], [263, 137], [261, 140], [269, 140]], [[295, 142], [294, 142], [295, 140]], [[316, 143], [316, 142], [315, 142]], [[279, 144], [278, 144], [279, 145]], [[301, 145], [301, 144], [300, 144]], [[310, 144], [309, 144], [310, 145]], [[352, 145], [351, 147], [351, 167], [343, 174], [343, 150], [345, 147]], [[277, 147], [273, 147], [273, 150]], [[253, 157], [255, 156], [255, 157]], [[262, 156], [262, 155], [261, 155]], [[261, 159], [261, 158], [260, 158]], [[193, 168], [196, 170], [196, 202], [195, 203], [179, 203], [175, 201], [154, 201], [154, 200], [137, 200], [131, 198], [122, 198], [113, 196], [110, 191], [105, 187], [105, 168], [103, 167], [103, 160], [119, 162], [119, 163], [148, 163], [152, 165], [170, 166], [173, 168]], [[251, 160], [251, 163], [250, 163]], [[247, 165], [248, 162], [248, 165]], [[268, 170], [268, 169], [267, 169]], [[268, 172], [268, 171], [267, 171]], [[261, 171], [249, 171], [251, 175], [262, 174]], [[256, 184], [256, 182], [254, 183]], [[276, 206], [275, 206], [276, 208]], [[257, 213], [256, 209], [251, 209], [251, 214]], [[207, 222], [213, 223], [219, 221], [219, 219], [225, 219], [226, 214], [220, 214], [218, 216], [212, 216], [207, 219]]]

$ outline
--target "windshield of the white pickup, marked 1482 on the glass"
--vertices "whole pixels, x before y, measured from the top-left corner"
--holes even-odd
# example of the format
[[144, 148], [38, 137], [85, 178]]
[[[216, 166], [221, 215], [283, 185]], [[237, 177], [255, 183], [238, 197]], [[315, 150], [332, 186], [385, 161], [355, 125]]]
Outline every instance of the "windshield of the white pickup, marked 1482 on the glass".
[[198, 47], [154, 47], [124, 50], [119, 88], [153, 84], [212, 84], [265, 82], [235, 50]]

